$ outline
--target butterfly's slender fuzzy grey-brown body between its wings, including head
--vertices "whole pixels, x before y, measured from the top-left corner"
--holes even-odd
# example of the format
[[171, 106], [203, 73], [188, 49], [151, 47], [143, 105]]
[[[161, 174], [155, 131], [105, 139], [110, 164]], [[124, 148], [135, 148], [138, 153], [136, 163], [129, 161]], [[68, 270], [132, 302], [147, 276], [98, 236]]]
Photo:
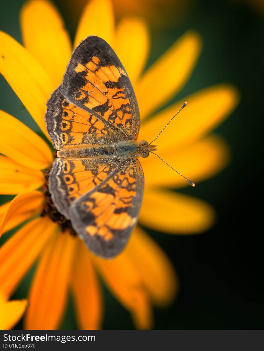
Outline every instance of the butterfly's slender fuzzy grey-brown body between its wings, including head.
[[148, 145], [147, 141], [118, 141], [111, 145], [86, 145], [63, 149], [57, 152], [62, 158], [119, 158], [120, 160], [129, 157], [147, 157], [150, 150], [156, 150], [156, 146]]

